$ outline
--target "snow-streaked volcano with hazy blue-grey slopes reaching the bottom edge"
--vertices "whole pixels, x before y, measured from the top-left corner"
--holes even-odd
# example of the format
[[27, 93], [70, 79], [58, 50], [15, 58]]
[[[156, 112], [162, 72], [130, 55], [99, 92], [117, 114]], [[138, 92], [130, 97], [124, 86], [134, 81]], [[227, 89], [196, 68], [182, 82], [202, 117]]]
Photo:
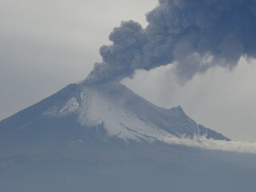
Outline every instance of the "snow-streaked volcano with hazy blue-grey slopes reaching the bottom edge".
[[120, 82], [70, 84], [0, 122], [0, 190], [250, 191], [254, 154], [174, 145], [230, 141]]

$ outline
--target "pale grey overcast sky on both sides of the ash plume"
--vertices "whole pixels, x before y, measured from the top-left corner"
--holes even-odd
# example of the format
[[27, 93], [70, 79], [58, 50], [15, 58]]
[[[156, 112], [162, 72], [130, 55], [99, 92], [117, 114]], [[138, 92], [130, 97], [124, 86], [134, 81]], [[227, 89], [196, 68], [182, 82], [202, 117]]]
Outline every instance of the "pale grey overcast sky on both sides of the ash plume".
[[[157, 0], [2, 0], [0, 119], [86, 78], [98, 49], [122, 20], [146, 26]], [[171, 66], [137, 71], [123, 83], [154, 104], [181, 105], [196, 122], [235, 141], [256, 142], [256, 62], [215, 67], [180, 85]]]

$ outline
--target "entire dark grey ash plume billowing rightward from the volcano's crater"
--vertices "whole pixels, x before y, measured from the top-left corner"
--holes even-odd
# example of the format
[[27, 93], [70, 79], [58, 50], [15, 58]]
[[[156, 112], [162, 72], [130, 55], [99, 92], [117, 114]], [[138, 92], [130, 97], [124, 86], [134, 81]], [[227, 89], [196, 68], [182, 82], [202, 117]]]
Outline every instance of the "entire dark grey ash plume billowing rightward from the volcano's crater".
[[146, 29], [122, 22], [102, 46], [87, 82], [121, 80], [135, 70], [176, 63], [184, 81], [219, 65], [232, 69], [239, 58], [256, 57], [255, 0], [159, 0], [146, 14]]

